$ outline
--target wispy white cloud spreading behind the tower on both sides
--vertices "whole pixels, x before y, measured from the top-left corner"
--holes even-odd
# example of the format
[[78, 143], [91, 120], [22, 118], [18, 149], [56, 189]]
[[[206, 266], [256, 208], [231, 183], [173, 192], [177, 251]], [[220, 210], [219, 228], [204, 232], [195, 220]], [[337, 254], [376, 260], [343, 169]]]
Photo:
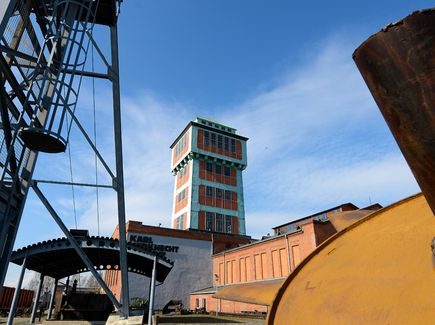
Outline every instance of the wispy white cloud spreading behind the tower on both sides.
[[[370, 197], [389, 203], [418, 191], [346, 44], [339, 37], [325, 41], [315, 55], [283, 72], [273, 87], [214, 116], [250, 138], [244, 173], [250, 234], [267, 233], [285, 218], [343, 202], [365, 204]], [[99, 148], [113, 166], [112, 117], [110, 110], [102, 109], [110, 107], [111, 96], [105, 88], [98, 94], [98, 113], [104, 120], [99, 122]], [[84, 106], [89, 106], [86, 88], [82, 95]], [[87, 108], [82, 119], [92, 111]], [[127, 220], [169, 226], [174, 181], [169, 146], [188, 121], [207, 109], [144, 90], [123, 98], [122, 110]], [[103, 127], [104, 122], [110, 127]], [[91, 125], [87, 127], [91, 130]], [[73, 141], [74, 177], [89, 182], [95, 177], [94, 157], [85, 145]], [[66, 158], [55, 170], [68, 179]], [[99, 170], [102, 180], [101, 165]], [[66, 189], [67, 198], [58, 197], [57, 203], [72, 220], [70, 192]], [[95, 190], [76, 189], [76, 199], [79, 227], [95, 233]], [[264, 215], [270, 216], [268, 229], [257, 220]], [[115, 192], [100, 190], [102, 234], [112, 233], [116, 216]]]

